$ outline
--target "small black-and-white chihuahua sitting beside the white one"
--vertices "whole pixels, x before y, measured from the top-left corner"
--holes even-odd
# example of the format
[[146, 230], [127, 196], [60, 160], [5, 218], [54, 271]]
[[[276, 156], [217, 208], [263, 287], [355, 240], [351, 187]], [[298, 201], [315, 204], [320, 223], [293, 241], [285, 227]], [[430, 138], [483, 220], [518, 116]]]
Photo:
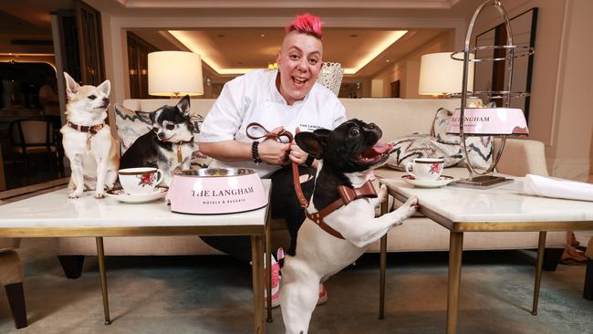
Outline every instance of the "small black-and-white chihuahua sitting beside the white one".
[[175, 106], [163, 106], [153, 112], [135, 111], [152, 130], [140, 136], [125, 151], [120, 168], [156, 167], [163, 173], [162, 185], [171, 183], [172, 171], [190, 169], [195, 125], [190, 120], [190, 97], [185, 96]]

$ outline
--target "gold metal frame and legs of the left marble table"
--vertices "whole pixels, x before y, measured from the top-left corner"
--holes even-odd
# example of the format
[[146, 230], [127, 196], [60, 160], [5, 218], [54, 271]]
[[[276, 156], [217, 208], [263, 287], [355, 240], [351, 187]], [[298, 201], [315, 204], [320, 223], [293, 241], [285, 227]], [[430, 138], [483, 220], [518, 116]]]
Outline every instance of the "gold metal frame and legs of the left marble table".
[[[59, 190], [58, 190], [59, 191]], [[270, 186], [266, 187], [266, 193], [270, 195]], [[66, 197], [64, 200], [68, 200]], [[104, 200], [99, 200], [104, 201]], [[269, 202], [269, 201], [268, 201]], [[8, 205], [8, 204], [5, 204]], [[141, 204], [135, 204], [141, 205]], [[4, 205], [0, 205], [2, 208]], [[264, 224], [244, 225], [184, 225], [184, 226], [39, 226], [39, 227], [0, 227], [0, 237], [62, 237], [62, 236], [92, 236], [97, 243], [97, 256], [99, 260], [99, 278], [101, 293], [103, 297], [103, 313], [105, 325], [111, 323], [109, 315], [109, 296], [107, 288], [107, 273], [105, 269], [105, 252], [103, 237], [110, 236], [170, 236], [170, 235], [250, 235], [251, 256], [252, 256], [252, 285], [254, 291], [254, 331], [265, 333], [264, 321], [264, 283], [266, 284], [267, 295], [271, 296], [271, 224], [270, 206], [265, 206]], [[262, 210], [259, 209], [259, 210]], [[224, 214], [221, 214], [224, 218]], [[2, 219], [2, 218], [0, 218]], [[264, 257], [265, 247], [265, 259]], [[264, 266], [264, 261], [266, 266]], [[264, 270], [266, 271], [266, 282], [264, 282]], [[266, 318], [272, 321], [272, 300], [268, 298]]]

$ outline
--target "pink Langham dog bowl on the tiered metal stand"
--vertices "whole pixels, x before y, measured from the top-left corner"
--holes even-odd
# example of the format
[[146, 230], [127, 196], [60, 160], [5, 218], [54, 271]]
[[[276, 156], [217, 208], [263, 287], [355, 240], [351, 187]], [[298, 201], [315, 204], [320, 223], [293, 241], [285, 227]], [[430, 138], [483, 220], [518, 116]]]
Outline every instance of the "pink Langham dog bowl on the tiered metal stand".
[[[447, 133], [459, 133], [461, 110], [456, 109]], [[466, 108], [463, 132], [475, 135], [529, 134], [523, 110], [515, 108]]]

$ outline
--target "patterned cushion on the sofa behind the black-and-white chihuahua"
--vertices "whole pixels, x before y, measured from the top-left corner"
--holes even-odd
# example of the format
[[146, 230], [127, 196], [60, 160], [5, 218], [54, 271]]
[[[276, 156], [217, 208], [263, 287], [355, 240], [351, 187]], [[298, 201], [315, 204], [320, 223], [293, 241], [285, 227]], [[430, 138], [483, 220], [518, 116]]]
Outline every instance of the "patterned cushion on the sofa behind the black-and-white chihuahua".
[[[202, 128], [203, 117], [199, 114], [191, 114], [190, 118], [196, 130], [196, 136], [193, 137], [193, 141], [197, 148], [192, 154], [192, 166], [205, 168], [212, 162], [212, 158], [200, 152], [197, 133], [200, 133], [200, 129]], [[151, 126], [141, 121], [133, 110], [129, 110], [120, 104], [115, 105], [115, 125], [120, 136], [120, 150], [122, 155], [130, 148], [134, 141], [151, 130]]]

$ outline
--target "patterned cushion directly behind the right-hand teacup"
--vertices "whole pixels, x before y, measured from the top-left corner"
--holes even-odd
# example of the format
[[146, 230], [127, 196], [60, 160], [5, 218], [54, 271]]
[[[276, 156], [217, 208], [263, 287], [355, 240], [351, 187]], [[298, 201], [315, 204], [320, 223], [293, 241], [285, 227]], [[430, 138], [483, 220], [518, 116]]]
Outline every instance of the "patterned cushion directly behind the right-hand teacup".
[[463, 159], [459, 145], [439, 142], [427, 134], [415, 133], [390, 141], [393, 150], [387, 166], [405, 171], [408, 162], [417, 158], [442, 158], [444, 167], [451, 167]]

